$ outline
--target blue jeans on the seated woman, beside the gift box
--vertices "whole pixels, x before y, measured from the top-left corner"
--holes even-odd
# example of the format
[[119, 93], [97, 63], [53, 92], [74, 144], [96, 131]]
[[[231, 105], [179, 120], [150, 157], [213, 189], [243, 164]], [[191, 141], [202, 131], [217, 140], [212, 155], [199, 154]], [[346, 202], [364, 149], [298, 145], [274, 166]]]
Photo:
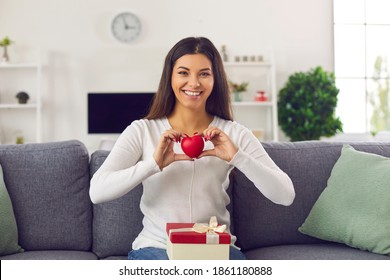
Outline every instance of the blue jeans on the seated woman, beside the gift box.
[[[168, 260], [168, 255], [165, 249], [147, 247], [130, 251], [127, 258], [129, 260]], [[230, 246], [229, 259], [246, 260], [246, 257], [240, 250]]]

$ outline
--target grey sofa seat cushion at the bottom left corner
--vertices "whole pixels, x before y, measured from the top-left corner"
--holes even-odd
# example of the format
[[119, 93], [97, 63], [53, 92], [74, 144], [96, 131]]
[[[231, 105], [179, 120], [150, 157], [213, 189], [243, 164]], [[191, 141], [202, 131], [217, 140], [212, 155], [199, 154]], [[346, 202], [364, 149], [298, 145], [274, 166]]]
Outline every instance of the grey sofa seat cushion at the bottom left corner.
[[3, 256], [1, 260], [97, 260], [97, 256], [87, 251], [26, 251], [24, 253]]

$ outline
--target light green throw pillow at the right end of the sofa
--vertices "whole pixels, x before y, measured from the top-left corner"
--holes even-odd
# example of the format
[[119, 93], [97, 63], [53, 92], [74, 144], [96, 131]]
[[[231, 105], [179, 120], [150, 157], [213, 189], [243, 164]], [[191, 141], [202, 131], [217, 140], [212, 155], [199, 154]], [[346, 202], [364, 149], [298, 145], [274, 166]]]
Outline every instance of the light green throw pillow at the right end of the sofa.
[[390, 159], [344, 145], [299, 231], [390, 255]]

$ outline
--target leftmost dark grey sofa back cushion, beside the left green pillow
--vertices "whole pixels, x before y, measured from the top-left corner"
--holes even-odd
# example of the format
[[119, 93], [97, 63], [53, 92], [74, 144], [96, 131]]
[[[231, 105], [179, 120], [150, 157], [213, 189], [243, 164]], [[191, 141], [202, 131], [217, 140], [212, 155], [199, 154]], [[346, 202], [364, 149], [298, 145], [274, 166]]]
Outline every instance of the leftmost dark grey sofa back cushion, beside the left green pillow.
[[84, 144], [0, 145], [0, 164], [25, 250], [90, 250], [92, 203]]

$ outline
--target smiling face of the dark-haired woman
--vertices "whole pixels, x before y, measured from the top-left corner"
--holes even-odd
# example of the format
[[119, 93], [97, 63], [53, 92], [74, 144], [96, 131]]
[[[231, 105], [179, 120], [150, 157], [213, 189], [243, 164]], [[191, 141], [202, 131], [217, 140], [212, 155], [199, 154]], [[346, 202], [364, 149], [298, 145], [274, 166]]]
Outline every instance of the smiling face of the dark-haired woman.
[[214, 86], [211, 61], [204, 54], [183, 55], [173, 66], [171, 85], [176, 106], [206, 110]]

